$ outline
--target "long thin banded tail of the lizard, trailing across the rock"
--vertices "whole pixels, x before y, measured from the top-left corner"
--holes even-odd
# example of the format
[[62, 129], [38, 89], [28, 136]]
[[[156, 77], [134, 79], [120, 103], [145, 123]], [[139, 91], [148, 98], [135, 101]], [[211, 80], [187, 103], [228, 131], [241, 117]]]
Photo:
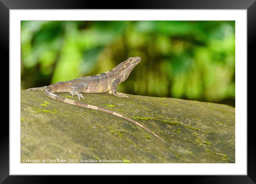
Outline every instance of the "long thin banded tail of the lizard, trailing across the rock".
[[123, 116], [122, 114], [118, 114], [116, 112], [113, 112], [113, 111], [109, 111], [108, 109], [104, 109], [104, 108], [101, 108], [101, 107], [97, 107], [97, 106], [92, 106], [92, 105], [89, 105], [89, 104], [86, 104], [86, 103], [81, 103], [81, 102], [77, 102], [77, 101], [74, 101], [74, 100], [70, 100], [70, 99], [67, 99], [67, 98], [63, 98], [63, 97], [60, 97], [50, 91], [47, 90], [47, 88], [44, 90], [44, 94], [51, 98], [51, 99], [55, 99], [57, 101], [60, 101], [60, 102], [64, 102], [64, 103], [68, 103], [68, 104], [72, 104], [72, 105], [75, 105], [75, 106], [80, 106], [80, 107], [85, 107], [85, 108], [89, 108], [89, 109], [94, 109], [94, 110], [98, 110], [98, 111], [103, 111], [103, 112], [107, 112], [107, 113], [110, 113], [110, 114], [113, 114], [115, 116], [118, 116], [120, 118], [123, 118], [123, 119], [126, 119], [136, 125], [138, 125], [139, 127], [143, 128], [144, 130], [150, 132], [151, 134], [153, 134], [155, 137], [161, 139], [162, 141], [164, 141], [161, 137], [159, 137], [157, 134], [155, 134], [154, 132], [152, 132], [151, 130], [149, 130], [147, 127], [144, 127], [142, 124], [134, 121], [133, 119], [131, 118], [128, 118], [128, 117], [125, 117]]

